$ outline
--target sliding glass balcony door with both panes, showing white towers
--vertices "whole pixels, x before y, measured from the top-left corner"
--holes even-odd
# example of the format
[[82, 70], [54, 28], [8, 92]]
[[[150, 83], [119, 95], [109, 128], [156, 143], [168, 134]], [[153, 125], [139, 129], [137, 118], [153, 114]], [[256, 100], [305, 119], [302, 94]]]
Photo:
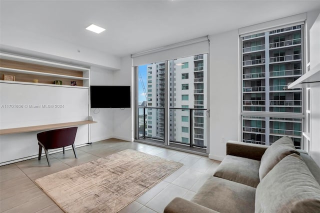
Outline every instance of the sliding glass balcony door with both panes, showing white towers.
[[207, 54], [140, 65], [136, 72], [136, 139], [205, 151]]

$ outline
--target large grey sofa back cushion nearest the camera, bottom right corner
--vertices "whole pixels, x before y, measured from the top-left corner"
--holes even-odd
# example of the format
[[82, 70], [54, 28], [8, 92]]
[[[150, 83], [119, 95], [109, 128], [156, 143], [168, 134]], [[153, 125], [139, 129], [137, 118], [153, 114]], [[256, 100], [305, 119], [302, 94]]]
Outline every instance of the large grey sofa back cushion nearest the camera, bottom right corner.
[[320, 185], [295, 153], [284, 157], [260, 181], [256, 212], [320, 212]]

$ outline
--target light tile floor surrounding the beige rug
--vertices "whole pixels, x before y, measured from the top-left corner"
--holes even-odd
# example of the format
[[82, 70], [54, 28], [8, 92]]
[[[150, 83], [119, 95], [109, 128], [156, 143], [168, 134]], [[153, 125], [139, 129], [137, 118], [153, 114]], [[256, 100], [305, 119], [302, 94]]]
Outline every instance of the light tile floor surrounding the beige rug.
[[0, 212], [63, 212], [33, 182], [42, 177], [75, 165], [127, 148], [157, 155], [183, 163], [178, 170], [136, 198], [119, 212], [163, 212], [174, 197], [191, 199], [203, 182], [213, 174], [219, 161], [182, 151], [162, 148], [138, 142], [107, 139], [76, 148], [50, 154], [51, 166], [45, 156], [0, 166]]

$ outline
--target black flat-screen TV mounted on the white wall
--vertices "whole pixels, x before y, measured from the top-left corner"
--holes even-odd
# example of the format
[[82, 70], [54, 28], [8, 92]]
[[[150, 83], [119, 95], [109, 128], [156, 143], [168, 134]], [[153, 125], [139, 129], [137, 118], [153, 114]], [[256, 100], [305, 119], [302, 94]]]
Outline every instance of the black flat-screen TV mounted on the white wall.
[[91, 108], [130, 108], [130, 86], [90, 86]]

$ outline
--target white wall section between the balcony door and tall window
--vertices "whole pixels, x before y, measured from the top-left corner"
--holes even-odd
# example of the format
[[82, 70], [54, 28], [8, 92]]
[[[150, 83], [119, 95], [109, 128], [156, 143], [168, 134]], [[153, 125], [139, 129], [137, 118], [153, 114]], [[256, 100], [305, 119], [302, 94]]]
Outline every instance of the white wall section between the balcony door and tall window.
[[238, 31], [210, 35], [210, 153], [222, 160], [225, 141], [238, 140], [239, 44]]

